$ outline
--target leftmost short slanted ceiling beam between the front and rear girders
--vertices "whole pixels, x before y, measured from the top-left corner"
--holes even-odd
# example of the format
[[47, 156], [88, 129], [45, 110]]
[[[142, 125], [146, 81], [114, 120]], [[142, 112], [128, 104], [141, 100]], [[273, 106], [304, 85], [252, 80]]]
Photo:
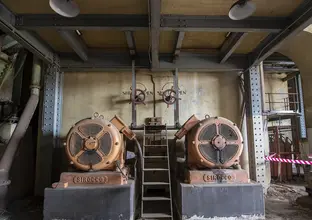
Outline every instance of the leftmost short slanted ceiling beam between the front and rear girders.
[[60, 36], [67, 42], [67, 44], [77, 53], [83, 60], [88, 60], [88, 49], [84, 41], [75, 31], [59, 30]]

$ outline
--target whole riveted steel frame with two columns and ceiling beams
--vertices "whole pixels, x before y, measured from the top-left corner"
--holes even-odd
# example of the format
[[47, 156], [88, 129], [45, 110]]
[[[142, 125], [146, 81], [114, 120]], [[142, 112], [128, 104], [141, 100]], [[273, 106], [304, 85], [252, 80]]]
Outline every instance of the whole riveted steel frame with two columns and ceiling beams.
[[[312, 1], [305, 0], [293, 15], [287, 18], [252, 17], [243, 21], [232, 21], [226, 16], [196, 16], [196, 15], [161, 15], [160, 1], [150, 2], [151, 15], [151, 45], [152, 62], [148, 54], [135, 53], [133, 60], [134, 38], [128, 31], [147, 30], [149, 15], [79, 15], [68, 19], [58, 15], [47, 14], [13, 14], [0, 3], [0, 29], [14, 40], [31, 51], [35, 56], [49, 65], [49, 73], [45, 75], [44, 98], [42, 109], [42, 134], [39, 142], [40, 153], [49, 155], [54, 147], [59, 146], [58, 135], [61, 125], [62, 77], [61, 71], [109, 71], [133, 70], [136, 68], [152, 68], [156, 71], [244, 71], [245, 86], [248, 95], [247, 117], [250, 134], [250, 164], [251, 178], [262, 184], [265, 182], [262, 98], [260, 91], [260, 73], [258, 65], [274, 53], [285, 40], [293, 37], [312, 22]], [[38, 28], [53, 28], [63, 34], [76, 54], [60, 54], [53, 51], [49, 45], [29, 30]], [[126, 31], [129, 54], [94, 52], [84, 46], [73, 30], [83, 29], [114, 29]], [[171, 30], [179, 32], [176, 48], [173, 54], [159, 54], [160, 31]], [[237, 32], [231, 34], [221, 51], [210, 54], [181, 52], [184, 32]], [[249, 55], [235, 55], [233, 51], [248, 32], [270, 32], [260, 45]], [[131, 38], [131, 39], [130, 39]], [[77, 56], [78, 55], [78, 56]], [[80, 57], [80, 58], [79, 58]], [[174, 62], [173, 62], [174, 61]], [[251, 61], [251, 62], [248, 62]], [[62, 69], [60, 70], [60, 67]], [[48, 153], [47, 153], [48, 152]], [[49, 169], [51, 158], [39, 158], [40, 166]], [[39, 167], [37, 167], [39, 169]], [[40, 169], [36, 180], [36, 192], [50, 184], [51, 173]]]

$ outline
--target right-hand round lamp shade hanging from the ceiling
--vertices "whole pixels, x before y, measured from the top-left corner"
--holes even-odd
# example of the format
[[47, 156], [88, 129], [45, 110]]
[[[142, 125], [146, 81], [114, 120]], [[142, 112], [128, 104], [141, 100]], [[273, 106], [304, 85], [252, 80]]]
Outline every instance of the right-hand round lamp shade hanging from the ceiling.
[[256, 11], [256, 5], [251, 1], [237, 1], [229, 11], [232, 20], [243, 20]]

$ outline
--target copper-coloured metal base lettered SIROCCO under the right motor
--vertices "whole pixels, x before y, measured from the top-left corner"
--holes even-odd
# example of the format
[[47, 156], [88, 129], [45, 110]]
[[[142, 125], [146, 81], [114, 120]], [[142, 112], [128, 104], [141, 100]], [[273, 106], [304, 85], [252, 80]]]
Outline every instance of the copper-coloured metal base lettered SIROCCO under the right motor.
[[186, 183], [249, 183], [248, 173], [245, 170], [212, 169], [187, 170]]

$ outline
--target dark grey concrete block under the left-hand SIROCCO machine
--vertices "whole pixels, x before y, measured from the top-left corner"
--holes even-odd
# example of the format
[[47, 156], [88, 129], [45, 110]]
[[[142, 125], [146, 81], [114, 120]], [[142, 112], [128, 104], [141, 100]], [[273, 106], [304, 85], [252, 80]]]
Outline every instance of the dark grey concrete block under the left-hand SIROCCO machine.
[[46, 188], [44, 220], [133, 220], [134, 185]]

